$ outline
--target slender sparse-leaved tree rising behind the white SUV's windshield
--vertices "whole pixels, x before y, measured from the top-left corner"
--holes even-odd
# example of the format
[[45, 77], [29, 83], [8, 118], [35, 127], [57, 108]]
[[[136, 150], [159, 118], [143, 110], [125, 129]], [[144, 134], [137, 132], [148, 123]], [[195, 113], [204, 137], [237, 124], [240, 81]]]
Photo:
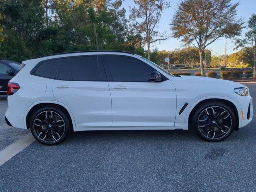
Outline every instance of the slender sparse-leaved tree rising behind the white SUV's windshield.
[[156, 29], [162, 17], [162, 11], [170, 8], [170, 3], [165, 0], [134, 0], [138, 8], [130, 8], [130, 19], [138, 32], [143, 34], [148, 47], [148, 59], [150, 59], [150, 44], [166, 40], [166, 32], [160, 33]]

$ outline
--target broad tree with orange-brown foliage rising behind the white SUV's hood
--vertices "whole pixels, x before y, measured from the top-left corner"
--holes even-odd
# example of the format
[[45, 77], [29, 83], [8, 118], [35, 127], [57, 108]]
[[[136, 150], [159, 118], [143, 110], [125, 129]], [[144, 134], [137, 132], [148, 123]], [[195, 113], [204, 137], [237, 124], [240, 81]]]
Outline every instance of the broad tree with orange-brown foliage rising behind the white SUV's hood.
[[198, 48], [201, 74], [204, 76], [204, 49], [217, 39], [240, 35], [242, 19], [236, 19], [232, 0], [181, 0], [171, 21], [172, 37]]

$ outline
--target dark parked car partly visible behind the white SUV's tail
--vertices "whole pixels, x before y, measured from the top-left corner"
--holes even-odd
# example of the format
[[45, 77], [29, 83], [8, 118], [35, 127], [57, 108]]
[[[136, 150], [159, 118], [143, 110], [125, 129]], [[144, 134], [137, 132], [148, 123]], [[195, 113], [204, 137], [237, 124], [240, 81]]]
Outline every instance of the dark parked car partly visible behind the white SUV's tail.
[[13, 78], [20, 70], [20, 63], [0, 60], [0, 94], [6, 94], [9, 80]]

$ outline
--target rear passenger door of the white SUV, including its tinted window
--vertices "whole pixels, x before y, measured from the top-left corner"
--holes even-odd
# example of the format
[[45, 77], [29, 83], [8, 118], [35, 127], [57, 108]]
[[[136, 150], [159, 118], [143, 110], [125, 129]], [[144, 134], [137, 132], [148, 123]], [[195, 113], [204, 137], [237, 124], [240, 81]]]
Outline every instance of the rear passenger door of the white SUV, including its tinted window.
[[98, 56], [62, 58], [52, 90], [72, 111], [77, 130], [111, 127], [110, 91]]

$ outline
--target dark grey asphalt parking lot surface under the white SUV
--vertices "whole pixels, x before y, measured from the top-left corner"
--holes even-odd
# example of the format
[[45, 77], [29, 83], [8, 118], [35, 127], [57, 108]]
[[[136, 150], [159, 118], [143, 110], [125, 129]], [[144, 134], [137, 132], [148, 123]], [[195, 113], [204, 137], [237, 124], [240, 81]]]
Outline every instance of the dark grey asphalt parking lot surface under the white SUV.
[[[256, 99], [256, 84], [245, 84]], [[0, 150], [29, 131], [7, 126], [0, 98]], [[255, 102], [254, 102], [254, 110]], [[57, 146], [34, 142], [0, 167], [0, 191], [254, 192], [252, 122], [223, 142], [192, 131], [75, 132]]]

